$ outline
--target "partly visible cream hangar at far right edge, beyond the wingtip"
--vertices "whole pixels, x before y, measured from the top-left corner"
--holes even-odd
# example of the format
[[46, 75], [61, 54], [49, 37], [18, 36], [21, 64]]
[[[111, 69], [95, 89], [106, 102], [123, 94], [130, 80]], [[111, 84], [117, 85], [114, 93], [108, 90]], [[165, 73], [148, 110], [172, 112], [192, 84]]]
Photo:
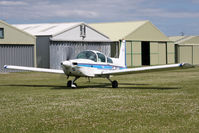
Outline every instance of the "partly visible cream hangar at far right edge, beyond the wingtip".
[[199, 64], [199, 36], [169, 37], [175, 44], [175, 62]]

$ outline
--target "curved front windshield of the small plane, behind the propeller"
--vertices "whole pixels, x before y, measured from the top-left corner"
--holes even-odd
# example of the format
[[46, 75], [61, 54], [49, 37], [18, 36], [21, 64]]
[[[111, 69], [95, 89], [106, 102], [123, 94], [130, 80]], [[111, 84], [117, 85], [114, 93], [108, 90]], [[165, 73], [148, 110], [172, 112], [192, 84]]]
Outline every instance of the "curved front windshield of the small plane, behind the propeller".
[[89, 59], [97, 62], [97, 56], [92, 51], [83, 51], [77, 55], [77, 59]]

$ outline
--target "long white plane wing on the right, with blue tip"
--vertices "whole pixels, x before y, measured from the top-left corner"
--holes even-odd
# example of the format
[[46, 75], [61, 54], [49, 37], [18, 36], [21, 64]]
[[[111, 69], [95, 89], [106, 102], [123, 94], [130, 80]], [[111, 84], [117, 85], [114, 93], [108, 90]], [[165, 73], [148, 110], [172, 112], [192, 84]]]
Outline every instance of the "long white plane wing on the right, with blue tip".
[[192, 67], [192, 65], [188, 63], [182, 63], [182, 64], [161, 65], [161, 66], [129, 68], [122, 70], [109, 70], [109, 71], [103, 71], [99, 75], [125, 75], [125, 74], [147, 72], [150, 70], [161, 70], [161, 69], [178, 68], [178, 67], [187, 68], [187, 67]]

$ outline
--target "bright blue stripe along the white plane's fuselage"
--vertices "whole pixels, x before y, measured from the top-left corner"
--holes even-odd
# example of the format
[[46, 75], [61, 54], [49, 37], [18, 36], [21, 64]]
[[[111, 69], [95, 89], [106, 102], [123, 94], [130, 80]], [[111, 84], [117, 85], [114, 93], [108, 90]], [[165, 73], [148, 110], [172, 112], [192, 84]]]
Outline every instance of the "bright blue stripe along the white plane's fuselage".
[[103, 64], [84, 64], [84, 63], [78, 63], [77, 66], [80, 67], [91, 67], [91, 68], [97, 68], [97, 69], [126, 69], [125, 67], [120, 66], [113, 66], [113, 65], [103, 65]]

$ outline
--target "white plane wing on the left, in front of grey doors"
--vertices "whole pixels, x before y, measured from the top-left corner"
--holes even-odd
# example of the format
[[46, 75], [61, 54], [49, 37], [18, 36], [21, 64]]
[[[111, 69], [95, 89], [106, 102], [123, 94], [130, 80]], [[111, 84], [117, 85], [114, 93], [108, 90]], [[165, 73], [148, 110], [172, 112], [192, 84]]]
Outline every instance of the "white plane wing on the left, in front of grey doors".
[[64, 73], [63, 70], [57, 70], [57, 69], [45, 69], [45, 68], [12, 66], [12, 65], [4, 65], [4, 69], [25, 70], [25, 71], [35, 71], [35, 72], [47, 72], [47, 73]]

